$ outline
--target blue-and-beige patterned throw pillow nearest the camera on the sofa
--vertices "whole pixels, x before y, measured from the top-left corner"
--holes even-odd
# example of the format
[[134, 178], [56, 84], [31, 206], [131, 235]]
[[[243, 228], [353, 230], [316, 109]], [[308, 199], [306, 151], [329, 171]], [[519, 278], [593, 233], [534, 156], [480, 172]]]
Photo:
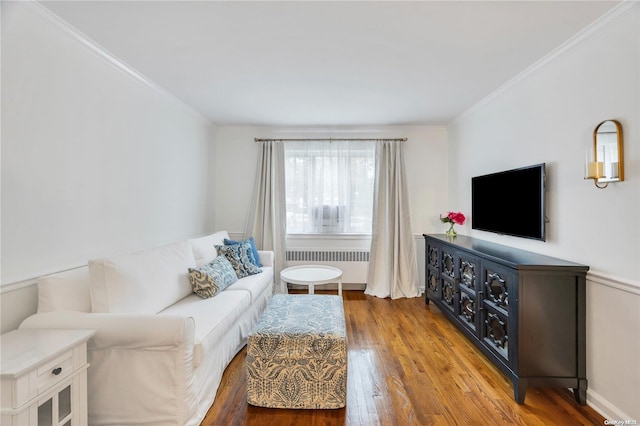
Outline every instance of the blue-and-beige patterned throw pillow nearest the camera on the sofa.
[[191, 288], [203, 299], [215, 296], [236, 281], [236, 271], [224, 256], [216, 257], [199, 268], [189, 268]]

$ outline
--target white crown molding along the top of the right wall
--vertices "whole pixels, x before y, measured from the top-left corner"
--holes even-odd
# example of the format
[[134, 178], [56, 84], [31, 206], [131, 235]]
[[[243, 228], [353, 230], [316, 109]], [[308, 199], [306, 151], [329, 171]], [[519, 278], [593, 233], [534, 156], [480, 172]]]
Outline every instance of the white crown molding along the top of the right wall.
[[611, 9], [609, 12], [602, 15], [600, 18], [596, 19], [593, 23], [591, 23], [586, 28], [579, 31], [569, 40], [562, 43], [560, 46], [549, 52], [547, 55], [534, 62], [531, 66], [529, 66], [524, 71], [515, 75], [515, 77], [508, 80], [502, 86], [498, 87], [496, 90], [491, 92], [489, 95], [479, 100], [477, 103], [472, 105], [469, 109], [462, 112], [456, 118], [454, 118], [449, 125], [455, 124], [474, 113], [475, 111], [482, 108], [487, 103], [491, 102], [502, 93], [508, 91], [516, 84], [520, 83], [522, 80], [529, 77], [531, 74], [534, 74], [544, 66], [549, 63], [555, 61], [556, 59], [566, 56], [578, 49], [582, 45], [588, 43], [593, 40], [601, 33], [609, 29], [614, 23], [618, 22], [620, 19], [624, 18], [627, 15], [630, 15], [634, 12], [640, 11], [640, 1], [639, 0], [623, 0], [622, 3]]

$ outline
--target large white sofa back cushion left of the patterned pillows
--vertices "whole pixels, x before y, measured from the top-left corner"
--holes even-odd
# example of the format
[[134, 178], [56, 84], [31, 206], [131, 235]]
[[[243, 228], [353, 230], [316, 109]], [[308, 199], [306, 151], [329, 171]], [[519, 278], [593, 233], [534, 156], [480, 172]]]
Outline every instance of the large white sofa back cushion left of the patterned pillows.
[[89, 261], [93, 312], [154, 314], [191, 294], [186, 241]]

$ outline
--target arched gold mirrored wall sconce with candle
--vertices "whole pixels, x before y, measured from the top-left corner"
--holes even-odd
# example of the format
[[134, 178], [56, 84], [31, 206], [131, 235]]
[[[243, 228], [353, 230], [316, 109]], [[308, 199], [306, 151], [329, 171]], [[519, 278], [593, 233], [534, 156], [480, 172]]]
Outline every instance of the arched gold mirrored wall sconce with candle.
[[616, 120], [598, 124], [593, 131], [593, 146], [587, 148], [584, 178], [593, 179], [600, 189], [609, 186], [609, 182], [623, 181], [623, 154], [622, 125]]

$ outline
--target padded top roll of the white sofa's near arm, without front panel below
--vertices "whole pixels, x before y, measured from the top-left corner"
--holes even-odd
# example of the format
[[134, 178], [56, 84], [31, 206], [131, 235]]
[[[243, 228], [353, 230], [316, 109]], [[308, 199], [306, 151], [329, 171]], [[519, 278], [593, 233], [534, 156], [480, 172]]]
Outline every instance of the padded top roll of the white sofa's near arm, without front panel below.
[[155, 314], [107, 314], [55, 311], [35, 314], [20, 324], [21, 329], [96, 330], [89, 350], [105, 348], [139, 349], [185, 345], [193, 347], [193, 318]]

